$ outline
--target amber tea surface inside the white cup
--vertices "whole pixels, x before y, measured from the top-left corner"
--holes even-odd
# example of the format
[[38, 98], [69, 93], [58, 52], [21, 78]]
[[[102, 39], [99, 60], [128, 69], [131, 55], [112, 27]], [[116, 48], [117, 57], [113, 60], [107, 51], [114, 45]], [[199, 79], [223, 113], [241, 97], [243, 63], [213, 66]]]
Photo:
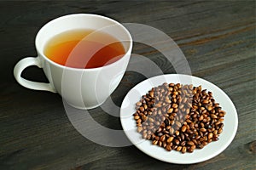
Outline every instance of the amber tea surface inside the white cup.
[[49, 39], [44, 54], [60, 65], [90, 69], [112, 64], [124, 56], [125, 48], [108, 33], [73, 30]]

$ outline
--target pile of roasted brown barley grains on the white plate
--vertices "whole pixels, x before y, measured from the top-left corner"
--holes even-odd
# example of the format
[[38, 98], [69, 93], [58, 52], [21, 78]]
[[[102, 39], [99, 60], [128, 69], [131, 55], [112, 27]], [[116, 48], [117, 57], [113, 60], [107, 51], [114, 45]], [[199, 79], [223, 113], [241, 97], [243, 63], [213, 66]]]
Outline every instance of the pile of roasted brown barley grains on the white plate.
[[202, 149], [218, 140], [225, 111], [201, 86], [163, 83], [136, 104], [137, 132], [168, 151]]

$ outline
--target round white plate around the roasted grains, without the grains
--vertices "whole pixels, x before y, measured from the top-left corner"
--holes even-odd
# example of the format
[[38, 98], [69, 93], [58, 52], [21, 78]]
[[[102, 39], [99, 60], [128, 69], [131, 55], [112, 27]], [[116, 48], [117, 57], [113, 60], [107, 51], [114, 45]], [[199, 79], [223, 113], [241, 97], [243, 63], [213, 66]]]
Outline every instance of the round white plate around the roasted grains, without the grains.
[[[135, 105], [137, 101], [139, 101], [144, 94], [147, 94], [148, 90], [157, 87], [164, 82], [179, 82], [181, 84], [193, 84], [193, 86], [201, 85], [202, 89], [207, 89], [207, 91], [212, 92], [213, 98], [219, 103], [222, 109], [226, 111], [226, 115], [224, 116], [224, 129], [220, 134], [218, 141], [207, 144], [207, 146], [201, 150], [196, 149], [193, 153], [182, 154], [176, 150], [166, 151], [162, 147], [153, 145], [151, 144], [151, 140], [143, 139], [142, 135], [137, 133], [136, 122], [132, 116], [136, 112]], [[217, 156], [219, 153], [225, 150], [234, 139], [238, 125], [236, 108], [224, 91], [211, 82], [207, 82], [199, 77], [181, 74], [169, 74], [152, 77], [137, 84], [137, 86], [132, 88], [125, 96], [125, 99], [121, 105], [120, 119], [128, 139], [130, 139], [131, 143], [135, 144], [139, 150], [142, 150], [148, 156], [152, 156], [160, 161], [178, 164], [206, 161], [214, 156]]]

